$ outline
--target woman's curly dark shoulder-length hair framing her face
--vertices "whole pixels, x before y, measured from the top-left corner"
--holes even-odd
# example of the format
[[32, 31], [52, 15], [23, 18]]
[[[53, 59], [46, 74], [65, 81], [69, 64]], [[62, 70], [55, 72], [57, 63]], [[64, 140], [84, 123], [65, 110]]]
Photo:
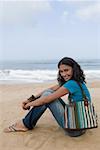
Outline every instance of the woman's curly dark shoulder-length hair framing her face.
[[[75, 80], [78, 83], [83, 83], [85, 81], [85, 74], [83, 73], [83, 70], [81, 69], [80, 65], [73, 60], [72, 58], [69, 57], [64, 57], [62, 58], [59, 63], [58, 63], [58, 69], [60, 65], [68, 65], [71, 66], [73, 69], [73, 76], [71, 80]], [[63, 79], [63, 77], [60, 75], [60, 72], [58, 72], [58, 83], [59, 85], [63, 85], [66, 81]]]

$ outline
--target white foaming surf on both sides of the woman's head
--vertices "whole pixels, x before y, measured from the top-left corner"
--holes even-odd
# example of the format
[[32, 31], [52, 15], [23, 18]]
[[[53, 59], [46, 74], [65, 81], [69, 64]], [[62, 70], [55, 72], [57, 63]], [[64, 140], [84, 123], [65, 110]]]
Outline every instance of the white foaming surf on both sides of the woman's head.
[[[88, 80], [99, 80], [100, 70], [84, 70]], [[0, 83], [43, 83], [55, 81], [57, 70], [0, 70]]]

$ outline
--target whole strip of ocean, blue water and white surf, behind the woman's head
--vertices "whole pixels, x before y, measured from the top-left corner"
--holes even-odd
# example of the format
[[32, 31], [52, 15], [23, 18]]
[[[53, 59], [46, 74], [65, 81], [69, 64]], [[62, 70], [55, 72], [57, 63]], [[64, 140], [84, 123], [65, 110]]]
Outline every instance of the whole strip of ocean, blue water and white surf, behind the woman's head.
[[[100, 80], [100, 60], [76, 60], [87, 80]], [[0, 84], [44, 83], [57, 79], [58, 60], [0, 61]]]

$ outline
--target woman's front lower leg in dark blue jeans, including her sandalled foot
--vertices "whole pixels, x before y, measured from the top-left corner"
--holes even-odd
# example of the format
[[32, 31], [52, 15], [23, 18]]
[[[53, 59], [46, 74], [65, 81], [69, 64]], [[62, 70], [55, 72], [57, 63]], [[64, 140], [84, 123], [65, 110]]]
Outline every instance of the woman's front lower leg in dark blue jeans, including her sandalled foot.
[[[48, 92], [44, 93], [42, 96], [46, 96], [47, 94]], [[4, 132], [27, 131], [32, 129], [46, 109], [47, 107], [45, 105], [32, 108], [22, 120], [5, 128]]]

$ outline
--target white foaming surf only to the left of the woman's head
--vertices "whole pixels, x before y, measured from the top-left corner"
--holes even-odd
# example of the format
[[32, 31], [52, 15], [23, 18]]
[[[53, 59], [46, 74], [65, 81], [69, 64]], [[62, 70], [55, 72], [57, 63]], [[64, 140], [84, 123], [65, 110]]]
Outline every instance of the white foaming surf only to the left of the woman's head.
[[0, 81], [37, 82], [53, 81], [56, 70], [0, 70]]

